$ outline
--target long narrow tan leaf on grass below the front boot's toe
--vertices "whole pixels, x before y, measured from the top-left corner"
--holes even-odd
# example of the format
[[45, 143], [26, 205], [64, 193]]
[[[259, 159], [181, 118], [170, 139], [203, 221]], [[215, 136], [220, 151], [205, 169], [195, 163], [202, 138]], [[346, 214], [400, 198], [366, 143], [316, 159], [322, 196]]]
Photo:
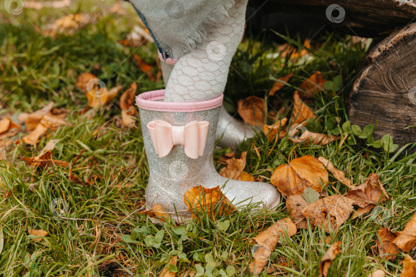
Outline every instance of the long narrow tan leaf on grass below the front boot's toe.
[[296, 233], [296, 226], [289, 217], [277, 221], [253, 238], [254, 243], [256, 243], [259, 248], [253, 254], [254, 262], [250, 265], [251, 274], [258, 275], [263, 270], [269, 260], [270, 254], [276, 247], [280, 235], [285, 232], [288, 236], [292, 236]]

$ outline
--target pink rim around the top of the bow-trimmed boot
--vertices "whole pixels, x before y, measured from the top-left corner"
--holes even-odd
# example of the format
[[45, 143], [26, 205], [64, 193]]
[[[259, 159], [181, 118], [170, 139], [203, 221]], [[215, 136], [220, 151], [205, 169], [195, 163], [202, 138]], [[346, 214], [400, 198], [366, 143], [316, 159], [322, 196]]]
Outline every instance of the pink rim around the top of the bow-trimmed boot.
[[224, 95], [199, 102], [163, 102], [165, 90], [147, 91], [136, 96], [136, 105], [145, 110], [167, 111], [167, 112], [193, 112], [204, 111], [221, 106]]

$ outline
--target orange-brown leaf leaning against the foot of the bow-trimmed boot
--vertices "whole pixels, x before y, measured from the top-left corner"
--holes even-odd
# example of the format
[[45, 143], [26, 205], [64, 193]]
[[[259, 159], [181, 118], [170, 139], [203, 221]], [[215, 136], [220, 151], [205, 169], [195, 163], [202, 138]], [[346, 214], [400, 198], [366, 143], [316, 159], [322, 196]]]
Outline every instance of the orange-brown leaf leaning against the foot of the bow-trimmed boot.
[[206, 210], [209, 216], [214, 217], [213, 209], [220, 203], [221, 207], [218, 212], [218, 216], [224, 213], [231, 213], [235, 210], [230, 200], [222, 193], [219, 186], [208, 189], [201, 186], [193, 187], [188, 190], [183, 196], [183, 201], [188, 209], [191, 211], [192, 216], [195, 217], [196, 211]]

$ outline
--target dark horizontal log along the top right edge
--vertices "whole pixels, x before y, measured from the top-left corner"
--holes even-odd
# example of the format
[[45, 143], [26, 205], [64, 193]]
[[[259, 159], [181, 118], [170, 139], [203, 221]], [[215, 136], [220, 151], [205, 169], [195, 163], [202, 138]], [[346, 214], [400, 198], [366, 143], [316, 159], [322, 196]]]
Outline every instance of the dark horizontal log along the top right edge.
[[[316, 18], [310, 23], [320, 21], [324, 26], [362, 37], [385, 37], [416, 17], [416, 4], [405, 0], [250, 0], [249, 5], [257, 12], [308, 15]], [[327, 16], [327, 9], [335, 7], [328, 8], [330, 5], [341, 9], [334, 9]], [[343, 10], [344, 18], [340, 16]]]

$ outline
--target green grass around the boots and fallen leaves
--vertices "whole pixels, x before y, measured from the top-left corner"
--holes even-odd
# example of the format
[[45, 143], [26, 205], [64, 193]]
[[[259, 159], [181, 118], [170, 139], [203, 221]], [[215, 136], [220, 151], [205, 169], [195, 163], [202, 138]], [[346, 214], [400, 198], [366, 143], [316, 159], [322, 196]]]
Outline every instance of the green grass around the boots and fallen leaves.
[[[201, 272], [201, 268], [206, 276], [225, 276], [233, 271], [231, 267], [236, 276], [250, 275], [253, 248], [250, 239], [288, 215], [284, 199], [274, 212], [242, 211], [216, 221], [202, 215], [198, 222], [191, 221], [182, 227], [171, 221], [155, 225], [139, 212], [144, 205], [148, 177], [140, 124], [131, 130], [119, 125], [118, 98], [107, 109], [81, 113], [87, 100], [75, 83], [84, 71], [96, 74], [107, 87], [122, 85], [127, 89], [135, 81], [138, 93], [163, 86], [162, 81], [150, 82], [133, 58], [136, 53], [146, 62], [156, 63], [154, 44], [133, 49], [117, 43], [134, 22], [128, 16], [108, 14], [111, 4], [106, 1], [94, 10], [100, 14], [97, 23], [57, 38], [44, 37], [34, 30], [32, 23], [42, 28], [62, 15], [88, 12], [95, 5], [75, 2], [58, 11], [25, 9], [18, 16], [2, 10], [6, 19], [0, 22], [0, 118], [15, 119], [21, 112], [31, 112], [54, 101], [55, 107], [70, 110], [66, 120], [70, 125], [48, 132], [36, 147], [12, 145], [7, 159], [0, 162], [0, 276], [154, 276], [172, 255], [180, 258], [178, 276], [191, 270]], [[127, 12], [130, 18], [136, 18], [131, 17], [135, 16], [132, 9]], [[300, 42], [286, 39], [294, 45]], [[264, 97], [269, 110], [289, 106], [301, 81], [320, 70], [327, 80], [341, 75], [342, 86], [334, 94], [322, 93], [308, 103], [317, 109], [320, 119], [313, 128], [326, 133], [341, 129], [337, 127], [338, 121], [339, 126], [348, 121], [345, 97], [365, 49], [352, 46], [349, 37], [336, 34], [320, 34], [312, 45], [317, 43], [322, 45], [316, 52], [312, 49], [308, 58], [293, 63], [288, 58], [271, 57], [278, 45], [263, 45], [261, 36], [246, 38], [236, 53], [225, 89], [229, 110], [235, 111], [237, 101], [250, 95]], [[331, 63], [337, 66], [331, 67]], [[157, 71], [156, 67], [154, 70]], [[294, 72], [290, 86], [268, 97], [274, 78], [290, 72]], [[15, 138], [24, 134], [23, 131]], [[87, 149], [74, 164], [73, 173], [83, 181], [96, 175], [96, 181], [91, 185], [80, 184], [69, 181], [68, 169], [33, 170], [19, 160], [37, 155], [49, 140], [56, 138], [60, 141], [53, 150], [54, 159], [71, 163]], [[375, 212], [348, 220], [337, 232], [327, 234], [322, 229], [309, 228], [298, 230], [291, 238], [281, 238], [268, 266], [286, 262], [289, 266], [281, 268], [283, 275], [316, 276], [329, 244], [342, 241], [342, 251], [333, 261], [329, 276], [367, 276], [376, 268], [400, 275], [404, 253], [392, 262], [380, 256], [377, 230], [384, 227], [402, 230], [416, 211], [416, 154], [407, 153], [406, 148], [401, 155], [393, 155], [366, 146], [365, 140], [356, 140], [357, 144], [346, 142], [342, 146], [339, 141], [309, 146], [293, 144], [287, 138], [269, 142], [259, 133], [239, 145], [236, 156], [248, 151], [246, 170], [267, 181], [274, 168], [296, 156], [324, 156], [346, 172], [354, 184], [361, 184], [369, 173], [376, 172], [390, 195], [390, 200], [374, 209]], [[218, 169], [222, 166], [219, 155], [228, 151], [215, 150]], [[34, 186], [34, 190], [29, 186]], [[347, 191], [332, 176], [326, 189], [329, 194]], [[67, 202], [64, 216], [52, 213], [54, 199]], [[183, 228], [185, 235], [181, 234]], [[43, 229], [49, 234], [41, 242], [35, 242], [28, 235], [30, 229]], [[146, 242], [157, 233], [160, 246], [149, 246]], [[414, 258], [416, 252], [409, 254]], [[267, 270], [261, 275], [266, 276]]]

